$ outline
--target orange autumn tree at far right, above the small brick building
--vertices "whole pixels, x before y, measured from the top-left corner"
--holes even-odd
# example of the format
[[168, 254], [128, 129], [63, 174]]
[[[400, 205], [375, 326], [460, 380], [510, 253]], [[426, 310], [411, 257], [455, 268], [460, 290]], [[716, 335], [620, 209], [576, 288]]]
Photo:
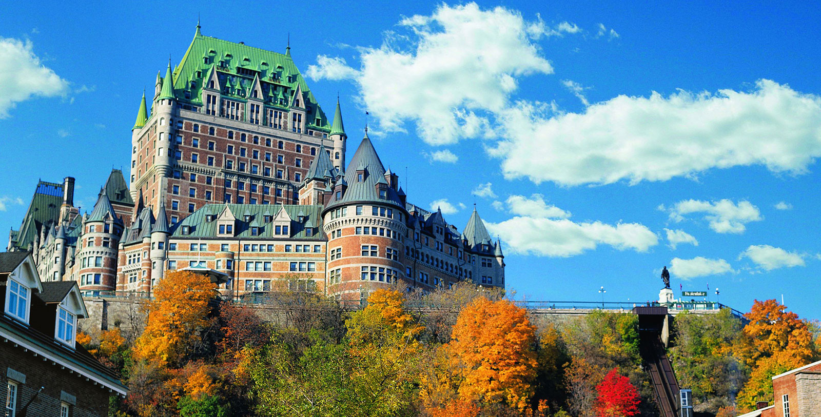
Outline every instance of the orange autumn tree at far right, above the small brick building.
[[755, 300], [745, 318], [750, 323], [732, 350], [752, 369], [738, 407], [753, 410], [756, 401], [772, 400], [773, 376], [810, 363], [818, 351], [808, 323], [776, 300]]

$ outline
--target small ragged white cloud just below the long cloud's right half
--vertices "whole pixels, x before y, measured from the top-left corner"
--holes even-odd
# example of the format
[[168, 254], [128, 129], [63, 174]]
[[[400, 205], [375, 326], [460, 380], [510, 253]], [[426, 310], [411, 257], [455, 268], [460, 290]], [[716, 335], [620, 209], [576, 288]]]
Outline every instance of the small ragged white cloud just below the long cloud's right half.
[[[658, 209], [665, 210], [665, 207], [660, 205]], [[703, 213], [704, 220], [707, 220], [710, 228], [718, 233], [744, 233], [746, 223], [763, 219], [759, 208], [745, 200], [735, 204], [729, 199], [686, 199], [674, 204], [667, 211], [670, 213], [670, 220], [674, 222], [681, 222], [687, 214]]]

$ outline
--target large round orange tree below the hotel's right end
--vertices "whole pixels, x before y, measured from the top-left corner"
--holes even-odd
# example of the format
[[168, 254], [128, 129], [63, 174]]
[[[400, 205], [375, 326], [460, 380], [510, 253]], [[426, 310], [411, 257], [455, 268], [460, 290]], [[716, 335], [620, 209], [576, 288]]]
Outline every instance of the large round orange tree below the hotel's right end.
[[459, 399], [525, 410], [536, 376], [535, 328], [509, 300], [479, 297], [461, 310], [446, 349], [459, 364]]

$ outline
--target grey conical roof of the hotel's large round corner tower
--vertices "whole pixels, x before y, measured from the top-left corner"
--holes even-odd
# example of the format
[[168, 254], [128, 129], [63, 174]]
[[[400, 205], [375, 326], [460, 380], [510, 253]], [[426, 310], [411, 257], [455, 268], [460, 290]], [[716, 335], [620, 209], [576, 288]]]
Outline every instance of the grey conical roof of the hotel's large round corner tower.
[[[334, 194], [328, 207], [333, 205], [348, 203], [348, 202], [372, 202], [382, 204], [395, 204], [397, 207], [404, 207], [401, 203], [399, 195], [396, 190], [387, 187], [388, 192], [386, 199], [380, 199], [376, 185], [378, 183], [385, 183], [385, 167], [382, 161], [379, 160], [379, 155], [376, 154], [374, 144], [370, 142], [368, 135], [362, 139], [359, 148], [356, 149], [351, 163], [348, 164], [348, 172], [345, 174], [344, 180], [347, 184], [347, 190], [342, 194], [341, 199], [337, 199]], [[365, 170], [363, 181], [359, 181], [356, 170], [351, 167], [358, 167], [360, 171]], [[337, 182], [337, 186], [342, 181]]]

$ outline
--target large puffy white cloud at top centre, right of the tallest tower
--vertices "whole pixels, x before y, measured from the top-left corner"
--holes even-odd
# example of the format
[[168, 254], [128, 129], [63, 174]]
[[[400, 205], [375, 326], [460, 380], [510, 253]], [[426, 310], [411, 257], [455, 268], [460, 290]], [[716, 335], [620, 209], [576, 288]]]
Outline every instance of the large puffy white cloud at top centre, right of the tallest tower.
[[[412, 34], [388, 35], [378, 48], [358, 49], [360, 71], [333, 71], [355, 76], [362, 102], [384, 131], [404, 131], [410, 121], [428, 144], [493, 137], [497, 126], [488, 117], [509, 106], [516, 77], [553, 73], [534, 44], [553, 29], [505, 7], [442, 4], [430, 16], [410, 16], [400, 26]], [[324, 64], [312, 77], [330, 77], [321, 68], [342, 64], [321, 58]]]

